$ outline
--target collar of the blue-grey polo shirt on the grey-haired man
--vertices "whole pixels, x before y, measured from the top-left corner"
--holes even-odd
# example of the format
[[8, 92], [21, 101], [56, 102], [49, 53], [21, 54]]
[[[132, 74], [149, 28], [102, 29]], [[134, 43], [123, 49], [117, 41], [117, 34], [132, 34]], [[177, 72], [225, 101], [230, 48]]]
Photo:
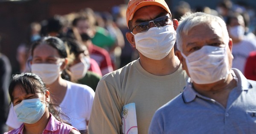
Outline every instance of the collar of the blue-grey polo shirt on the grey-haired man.
[[[232, 73], [233, 77], [238, 81], [236, 87], [241, 86], [241, 90], [243, 90], [243, 91], [252, 88], [252, 85], [244, 77], [244, 75], [241, 73], [241, 71], [239, 71], [236, 68], [232, 68], [231, 73]], [[202, 96], [201, 94], [198, 94], [198, 92], [196, 92], [193, 89], [192, 83], [190, 82], [190, 78], [188, 78], [187, 85], [184, 88], [184, 91], [183, 91], [183, 94], [182, 94], [183, 100], [184, 100], [185, 103], [190, 103], [193, 100], [195, 100], [196, 96], [203, 97], [204, 99], [207, 98], [207, 97]]]

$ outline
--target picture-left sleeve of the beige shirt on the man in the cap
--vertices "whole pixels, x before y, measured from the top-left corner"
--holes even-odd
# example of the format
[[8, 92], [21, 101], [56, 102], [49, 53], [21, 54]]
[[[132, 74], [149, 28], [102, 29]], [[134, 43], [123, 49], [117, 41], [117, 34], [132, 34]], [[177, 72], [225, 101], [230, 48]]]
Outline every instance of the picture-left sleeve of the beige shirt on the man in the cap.
[[100, 80], [90, 115], [89, 134], [119, 134], [122, 103], [114, 86]]

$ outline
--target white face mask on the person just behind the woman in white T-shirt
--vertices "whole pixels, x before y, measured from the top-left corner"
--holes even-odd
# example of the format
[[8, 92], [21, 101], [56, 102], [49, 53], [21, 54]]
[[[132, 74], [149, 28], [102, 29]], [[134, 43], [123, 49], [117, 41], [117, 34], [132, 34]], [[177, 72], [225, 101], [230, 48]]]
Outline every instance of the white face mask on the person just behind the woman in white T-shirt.
[[88, 70], [88, 64], [86, 61], [77, 63], [70, 67], [71, 76], [74, 80], [79, 80], [85, 76]]

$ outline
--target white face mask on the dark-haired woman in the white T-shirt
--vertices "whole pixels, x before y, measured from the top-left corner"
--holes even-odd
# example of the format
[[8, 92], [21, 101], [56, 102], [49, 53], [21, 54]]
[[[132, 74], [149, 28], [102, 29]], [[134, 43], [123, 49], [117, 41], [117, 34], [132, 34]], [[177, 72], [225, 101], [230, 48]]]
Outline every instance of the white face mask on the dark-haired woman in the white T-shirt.
[[62, 73], [61, 71], [62, 64], [32, 64], [31, 71], [34, 74], [37, 74], [42, 78], [45, 84], [49, 85], [55, 82], [59, 75]]

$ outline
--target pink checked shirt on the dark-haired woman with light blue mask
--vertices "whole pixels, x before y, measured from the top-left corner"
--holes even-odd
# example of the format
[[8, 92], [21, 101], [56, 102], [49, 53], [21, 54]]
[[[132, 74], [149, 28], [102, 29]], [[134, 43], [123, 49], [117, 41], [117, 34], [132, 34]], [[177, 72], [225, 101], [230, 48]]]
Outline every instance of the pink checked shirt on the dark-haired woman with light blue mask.
[[[20, 128], [6, 132], [4, 134], [23, 134], [23, 128], [24, 124], [20, 125]], [[60, 121], [56, 120], [55, 117], [52, 116], [52, 114], [50, 114], [50, 120], [47, 123], [47, 126], [44, 129], [43, 134], [69, 134], [71, 129], [77, 130], [71, 125], [61, 123]]]

